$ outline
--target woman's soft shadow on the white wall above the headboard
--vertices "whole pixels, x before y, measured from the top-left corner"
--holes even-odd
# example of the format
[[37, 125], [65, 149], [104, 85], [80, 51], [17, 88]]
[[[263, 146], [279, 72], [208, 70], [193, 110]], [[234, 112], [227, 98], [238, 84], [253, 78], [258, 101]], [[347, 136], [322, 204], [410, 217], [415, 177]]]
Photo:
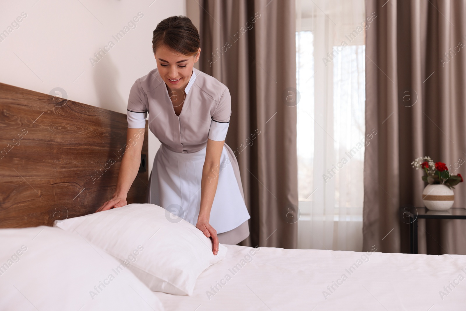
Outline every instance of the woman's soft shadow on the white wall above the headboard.
[[94, 65], [94, 86], [99, 104], [104, 109], [126, 111], [126, 101], [120, 96], [117, 88], [118, 77], [119, 70], [113, 63], [111, 55], [105, 55]]

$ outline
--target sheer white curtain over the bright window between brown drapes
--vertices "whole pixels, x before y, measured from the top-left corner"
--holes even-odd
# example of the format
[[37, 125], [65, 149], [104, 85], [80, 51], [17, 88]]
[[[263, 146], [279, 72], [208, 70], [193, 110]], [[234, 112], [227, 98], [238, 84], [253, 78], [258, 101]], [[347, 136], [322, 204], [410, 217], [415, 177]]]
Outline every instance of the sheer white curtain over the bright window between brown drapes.
[[364, 0], [296, 0], [298, 248], [361, 251]]

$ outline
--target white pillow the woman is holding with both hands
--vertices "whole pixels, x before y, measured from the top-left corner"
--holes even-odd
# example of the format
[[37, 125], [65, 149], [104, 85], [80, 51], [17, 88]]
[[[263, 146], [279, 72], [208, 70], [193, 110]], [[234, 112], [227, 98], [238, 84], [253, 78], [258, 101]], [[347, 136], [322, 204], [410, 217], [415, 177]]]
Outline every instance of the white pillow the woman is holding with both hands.
[[[75, 230], [130, 269], [151, 290], [192, 295], [202, 271], [226, 256], [219, 244], [212, 253], [211, 239], [191, 223], [154, 204], [129, 204], [107, 211], [55, 221]], [[141, 245], [144, 251], [129, 263], [128, 254]], [[136, 256], [136, 253], [135, 253]]]

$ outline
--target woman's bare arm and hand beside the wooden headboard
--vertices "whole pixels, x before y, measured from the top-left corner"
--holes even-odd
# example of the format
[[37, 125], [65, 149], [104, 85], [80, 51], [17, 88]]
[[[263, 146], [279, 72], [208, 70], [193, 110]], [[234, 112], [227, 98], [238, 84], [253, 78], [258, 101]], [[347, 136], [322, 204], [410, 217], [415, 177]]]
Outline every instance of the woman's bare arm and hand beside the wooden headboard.
[[126, 145], [130, 146], [123, 154], [120, 171], [118, 172], [117, 189], [113, 198], [105, 203], [97, 212], [105, 211], [113, 207], [122, 207], [128, 204], [126, 195], [136, 178], [137, 171], [141, 164], [141, 150], [144, 142], [144, 129], [128, 128], [126, 134]]

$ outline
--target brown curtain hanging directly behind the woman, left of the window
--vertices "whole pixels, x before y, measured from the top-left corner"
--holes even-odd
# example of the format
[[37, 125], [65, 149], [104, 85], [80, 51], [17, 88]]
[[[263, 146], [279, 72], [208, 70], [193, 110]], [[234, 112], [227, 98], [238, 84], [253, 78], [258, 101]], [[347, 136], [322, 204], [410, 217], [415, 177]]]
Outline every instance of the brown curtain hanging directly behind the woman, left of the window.
[[295, 1], [199, 5], [199, 69], [232, 97], [226, 144], [236, 154], [251, 215], [242, 245], [296, 248], [296, 107], [283, 96], [296, 89]]

